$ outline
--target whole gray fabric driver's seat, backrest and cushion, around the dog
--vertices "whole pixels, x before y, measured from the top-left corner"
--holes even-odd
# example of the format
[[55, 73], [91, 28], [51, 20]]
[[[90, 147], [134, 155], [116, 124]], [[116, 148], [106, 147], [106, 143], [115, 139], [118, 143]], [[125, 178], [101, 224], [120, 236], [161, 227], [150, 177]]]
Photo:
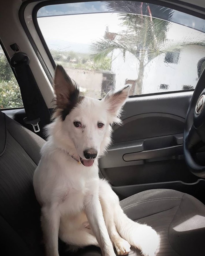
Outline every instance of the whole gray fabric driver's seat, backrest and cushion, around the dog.
[[[40, 207], [32, 178], [44, 140], [0, 111], [0, 243], [1, 255], [44, 255]], [[174, 190], [144, 191], [121, 201], [133, 220], [147, 223], [160, 236], [156, 255], [205, 255], [205, 206], [196, 198]], [[147, 241], [149, 246], [149, 240]], [[61, 255], [73, 255], [59, 248]], [[74, 255], [98, 256], [88, 247]], [[132, 250], [129, 255], [141, 255]]]

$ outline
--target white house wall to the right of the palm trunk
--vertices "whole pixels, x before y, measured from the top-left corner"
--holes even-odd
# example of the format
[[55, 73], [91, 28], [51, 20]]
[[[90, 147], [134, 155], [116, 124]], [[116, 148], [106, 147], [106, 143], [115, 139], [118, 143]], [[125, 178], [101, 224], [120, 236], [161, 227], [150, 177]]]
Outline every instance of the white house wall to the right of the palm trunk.
[[145, 68], [144, 93], [163, 92], [161, 84], [169, 85], [166, 91], [182, 90], [183, 85], [195, 88], [197, 63], [204, 56], [205, 48], [194, 45], [181, 50], [177, 64], [164, 62], [165, 54], [161, 54]]

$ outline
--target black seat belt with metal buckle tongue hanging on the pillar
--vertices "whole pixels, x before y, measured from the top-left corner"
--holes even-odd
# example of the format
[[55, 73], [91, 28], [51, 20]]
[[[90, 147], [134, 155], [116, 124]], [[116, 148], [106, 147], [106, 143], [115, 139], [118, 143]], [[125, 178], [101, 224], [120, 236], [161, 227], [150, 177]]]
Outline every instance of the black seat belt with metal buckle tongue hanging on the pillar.
[[29, 57], [20, 52], [18, 45], [10, 45], [14, 55], [10, 59], [10, 65], [14, 68], [16, 79], [20, 87], [26, 118], [24, 122], [33, 127], [33, 131], [44, 137], [42, 128], [50, 122], [50, 112], [38, 88], [33, 73], [29, 67]]

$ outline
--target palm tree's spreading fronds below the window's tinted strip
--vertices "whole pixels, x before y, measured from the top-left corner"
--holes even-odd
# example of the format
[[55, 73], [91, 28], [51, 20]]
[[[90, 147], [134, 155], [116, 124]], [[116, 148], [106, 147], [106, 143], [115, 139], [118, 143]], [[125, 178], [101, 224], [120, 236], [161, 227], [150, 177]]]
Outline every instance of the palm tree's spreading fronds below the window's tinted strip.
[[139, 61], [144, 61], [147, 56], [149, 62], [162, 53], [180, 52], [190, 45], [205, 47], [204, 38], [200, 40], [198, 35], [178, 40], [167, 39], [167, 31], [171, 26], [168, 21], [125, 13], [119, 14], [119, 17], [123, 30], [115, 33], [115, 39], [105, 37], [92, 44], [94, 61], [102, 60], [114, 49], [120, 49], [123, 58], [126, 52], [130, 52]]

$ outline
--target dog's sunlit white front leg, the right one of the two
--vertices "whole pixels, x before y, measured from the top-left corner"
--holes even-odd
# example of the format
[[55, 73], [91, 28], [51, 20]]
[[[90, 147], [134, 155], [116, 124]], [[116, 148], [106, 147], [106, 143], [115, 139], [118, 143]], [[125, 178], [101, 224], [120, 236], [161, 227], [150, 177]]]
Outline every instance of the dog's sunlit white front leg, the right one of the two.
[[84, 206], [90, 227], [96, 236], [103, 256], [115, 256], [113, 245], [105, 225], [103, 211], [98, 197], [98, 186], [96, 184], [90, 187], [90, 192], [85, 196]]

